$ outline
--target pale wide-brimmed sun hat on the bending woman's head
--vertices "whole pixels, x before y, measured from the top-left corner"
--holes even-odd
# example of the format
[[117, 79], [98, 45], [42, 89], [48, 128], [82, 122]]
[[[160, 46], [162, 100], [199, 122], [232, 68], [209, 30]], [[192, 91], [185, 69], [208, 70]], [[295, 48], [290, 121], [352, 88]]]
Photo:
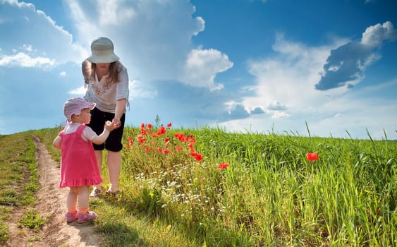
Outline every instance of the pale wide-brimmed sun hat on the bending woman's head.
[[114, 45], [107, 37], [98, 37], [91, 43], [91, 56], [88, 61], [94, 64], [109, 64], [118, 61], [114, 54]]

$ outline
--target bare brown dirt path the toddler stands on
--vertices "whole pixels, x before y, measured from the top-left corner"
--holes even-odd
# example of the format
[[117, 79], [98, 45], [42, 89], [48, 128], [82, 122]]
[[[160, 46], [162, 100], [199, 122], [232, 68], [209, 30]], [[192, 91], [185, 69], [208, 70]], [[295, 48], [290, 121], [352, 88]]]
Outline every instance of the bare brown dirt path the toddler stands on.
[[[89, 222], [78, 224], [77, 221], [66, 224], [66, 195], [68, 188], [59, 188], [59, 168], [51, 159], [45, 145], [34, 137], [36, 160], [39, 168], [39, 183], [42, 188], [37, 191], [35, 210], [42, 217], [48, 217], [47, 223], [39, 232], [18, 228], [18, 219], [25, 209], [16, 210], [10, 224], [11, 237], [6, 246], [99, 246], [100, 238], [94, 233], [94, 226]], [[23, 231], [24, 230], [24, 231]], [[37, 237], [39, 236], [39, 237]], [[32, 239], [34, 239], [32, 241]]]

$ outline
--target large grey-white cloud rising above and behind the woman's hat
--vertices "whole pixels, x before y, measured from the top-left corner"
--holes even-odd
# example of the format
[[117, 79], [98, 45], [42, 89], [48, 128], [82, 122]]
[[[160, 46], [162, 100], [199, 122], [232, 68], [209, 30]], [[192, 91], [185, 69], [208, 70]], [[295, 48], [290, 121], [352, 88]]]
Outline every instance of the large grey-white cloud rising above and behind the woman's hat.
[[192, 16], [195, 6], [189, 1], [66, 3], [78, 24], [77, 40], [89, 49], [94, 37], [110, 37], [133, 80], [178, 80], [217, 90], [223, 85], [215, 82], [216, 74], [233, 66], [216, 49], [193, 47], [191, 39], [204, 30], [205, 22]]

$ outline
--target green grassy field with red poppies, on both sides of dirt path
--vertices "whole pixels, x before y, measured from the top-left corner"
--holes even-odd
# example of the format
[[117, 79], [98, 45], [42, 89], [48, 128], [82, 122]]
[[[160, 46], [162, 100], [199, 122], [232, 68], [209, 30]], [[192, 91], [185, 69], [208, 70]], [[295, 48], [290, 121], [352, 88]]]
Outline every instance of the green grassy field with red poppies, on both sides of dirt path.
[[[59, 161], [58, 131], [32, 133]], [[395, 141], [147, 125], [125, 133], [121, 198], [91, 202], [103, 246], [397, 246]], [[0, 144], [31, 144], [30, 134]], [[14, 148], [1, 149], [1, 167], [23, 152]], [[20, 181], [4, 175], [6, 212], [3, 188]]]

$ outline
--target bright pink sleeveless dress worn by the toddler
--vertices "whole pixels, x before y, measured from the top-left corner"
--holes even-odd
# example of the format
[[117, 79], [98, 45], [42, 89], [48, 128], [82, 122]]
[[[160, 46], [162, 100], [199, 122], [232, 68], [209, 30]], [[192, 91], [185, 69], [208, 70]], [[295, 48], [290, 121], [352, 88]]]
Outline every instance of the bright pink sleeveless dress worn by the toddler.
[[82, 124], [73, 133], [59, 133], [62, 138], [60, 188], [102, 183], [92, 142], [81, 137], [85, 127]]

